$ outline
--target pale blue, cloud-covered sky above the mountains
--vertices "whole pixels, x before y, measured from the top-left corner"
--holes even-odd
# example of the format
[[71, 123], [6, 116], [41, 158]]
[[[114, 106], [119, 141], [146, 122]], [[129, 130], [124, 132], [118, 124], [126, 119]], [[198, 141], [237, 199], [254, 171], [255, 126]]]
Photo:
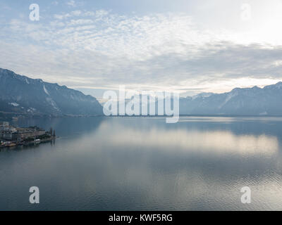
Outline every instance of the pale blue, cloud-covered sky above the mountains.
[[281, 21], [282, 0], [1, 0], [0, 68], [98, 98], [265, 86], [282, 80]]

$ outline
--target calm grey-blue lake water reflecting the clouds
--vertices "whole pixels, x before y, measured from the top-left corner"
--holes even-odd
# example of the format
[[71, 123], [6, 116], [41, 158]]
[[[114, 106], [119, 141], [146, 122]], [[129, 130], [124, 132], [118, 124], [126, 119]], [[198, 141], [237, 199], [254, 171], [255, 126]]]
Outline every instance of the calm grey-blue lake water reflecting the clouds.
[[[282, 210], [282, 118], [18, 121], [55, 143], [0, 151], [0, 210]], [[38, 186], [40, 203], [29, 203]], [[249, 186], [252, 203], [240, 203]]]

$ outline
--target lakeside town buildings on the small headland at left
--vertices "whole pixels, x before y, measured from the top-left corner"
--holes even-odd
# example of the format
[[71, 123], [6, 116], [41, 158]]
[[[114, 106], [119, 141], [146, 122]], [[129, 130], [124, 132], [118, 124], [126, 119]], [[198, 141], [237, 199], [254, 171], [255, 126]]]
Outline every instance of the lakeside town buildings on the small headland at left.
[[29, 146], [56, 139], [56, 131], [45, 131], [37, 126], [15, 127], [9, 122], [0, 122], [0, 148]]

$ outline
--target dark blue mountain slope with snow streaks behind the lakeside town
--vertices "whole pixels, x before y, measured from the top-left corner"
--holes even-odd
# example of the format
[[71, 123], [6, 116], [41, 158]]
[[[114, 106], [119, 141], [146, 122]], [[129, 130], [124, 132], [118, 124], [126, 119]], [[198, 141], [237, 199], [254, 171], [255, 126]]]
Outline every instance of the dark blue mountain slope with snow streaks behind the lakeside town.
[[102, 115], [92, 96], [0, 68], [0, 111], [29, 115]]

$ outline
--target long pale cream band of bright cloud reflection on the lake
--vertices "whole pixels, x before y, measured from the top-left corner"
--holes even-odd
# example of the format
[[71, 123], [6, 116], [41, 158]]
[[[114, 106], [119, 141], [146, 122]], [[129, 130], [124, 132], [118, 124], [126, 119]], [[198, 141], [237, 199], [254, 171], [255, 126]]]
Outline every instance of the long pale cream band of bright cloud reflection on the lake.
[[107, 137], [116, 146], [142, 146], [216, 154], [267, 154], [278, 151], [276, 136], [235, 135], [231, 131], [187, 131], [183, 129], [137, 131], [123, 129]]

